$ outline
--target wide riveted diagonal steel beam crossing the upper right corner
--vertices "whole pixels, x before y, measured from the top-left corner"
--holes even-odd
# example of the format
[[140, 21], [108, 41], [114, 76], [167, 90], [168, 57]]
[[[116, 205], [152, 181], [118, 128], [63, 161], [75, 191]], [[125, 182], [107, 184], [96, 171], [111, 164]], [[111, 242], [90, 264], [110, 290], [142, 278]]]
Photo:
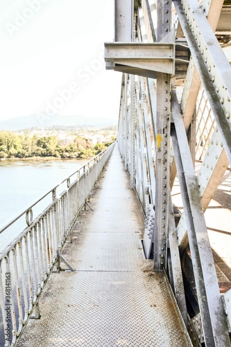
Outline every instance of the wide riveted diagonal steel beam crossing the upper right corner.
[[198, 1], [174, 0], [182, 29], [231, 163], [231, 67]]

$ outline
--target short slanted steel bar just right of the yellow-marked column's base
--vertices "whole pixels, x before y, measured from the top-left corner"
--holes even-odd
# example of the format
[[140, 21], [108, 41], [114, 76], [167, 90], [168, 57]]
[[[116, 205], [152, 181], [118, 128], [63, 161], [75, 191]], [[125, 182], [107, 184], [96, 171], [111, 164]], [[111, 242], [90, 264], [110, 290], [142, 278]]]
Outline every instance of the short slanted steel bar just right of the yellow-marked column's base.
[[173, 203], [171, 201], [171, 194], [169, 192], [169, 248], [171, 254], [171, 264], [173, 272], [173, 285], [176, 296], [176, 301], [182, 315], [182, 319], [187, 326], [187, 307], [185, 301], [185, 289], [182, 278], [180, 253], [178, 248], [178, 235], [176, 223], [174, 220]]

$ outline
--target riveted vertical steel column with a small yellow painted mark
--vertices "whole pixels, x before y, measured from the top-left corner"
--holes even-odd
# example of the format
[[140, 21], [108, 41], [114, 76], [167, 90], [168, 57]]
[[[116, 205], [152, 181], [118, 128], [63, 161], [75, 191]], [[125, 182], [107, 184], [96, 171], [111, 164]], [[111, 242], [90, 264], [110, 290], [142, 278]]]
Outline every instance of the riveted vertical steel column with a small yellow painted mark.
[[[171, 30], [171, 1], [157, 0], [157, 42]], [[170, 76], [157, 73], [157, 119], [155, 160], [154, 271], [166, 266], [169, 212]]]

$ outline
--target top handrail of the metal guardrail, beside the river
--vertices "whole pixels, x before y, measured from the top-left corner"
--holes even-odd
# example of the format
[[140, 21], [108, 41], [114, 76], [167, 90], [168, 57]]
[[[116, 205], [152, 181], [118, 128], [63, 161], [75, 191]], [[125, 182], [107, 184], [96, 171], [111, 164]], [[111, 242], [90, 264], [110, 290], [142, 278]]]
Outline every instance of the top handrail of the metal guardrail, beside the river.
[[[114, 142], [112, 144], [110, 144], [110, 146], [112, 146], [114, 144]], [[110, 147], [109, 146], [109, 147]], [[40, 196], [40, 198], [36, 199], [35, 201], [33, 201], [33, 203], [30, 203], [28, 205], [26, 205], [26, 208], [23, 208], [20, 212], [17, 213], [17, 215], [15, 215], [14, 217], [8, 219], [7, 221], [5, 221], [5, 223], [3, 223], [0, 227], [0, 234], [6, 230], [7, 228], [9, 228], [9, 226], [12, 223], [15, 223], [15, 221], [17, 221], [19, 218], [21, 218], [26, 212], [28, 212], [29, 210], [31, 210], [31, 208], [33, 208], [35, 205], [37, 205], [37, 203], [39, 203], [40, 201], [42, 201], [43, 198], [45, 198], [46, 196], [48, 196], [49, 194], [51, 194], [51, 192], [53, 192], [53, 190], [57, 189], [58, 187], [60, 187], [60, 185], [62, 185], [62, 183], [65, 183], [65, 181], [69, 180], [69, 178], [71, 178], [72, 176], [76, 175], [78, 172], [80, 172], [81, 170], [83, 170], [85, 167], [90, 167], [90, 164], [94, 165], [94, 162], [96, 162], [97, 158], [100, 158], [101, 155], [103, 155], [103, 153], [105, 151], [107, 151], [107, 149], [109, 148], [107, 147], [106, 149], [104, 149], [101, 153], [97, 154], [96, 156], [94, 156], [94, 158], [88, 160], [82, 167], [80, 167], [78, 170], [74, 171], [73, 174], [67, 176], [67, 178], [65, 178], [64, 180], [62, 180], [60, 183], [57, 183], [52, 189], [49, 190], [49, 192], [46, 192], [45, 194], [42, 194], [42, 196]], [[82, 176], [84, 174], [84, 170], [82, 173]], [[80, 178], [81, 176], [79, 176], [78, 178]]]

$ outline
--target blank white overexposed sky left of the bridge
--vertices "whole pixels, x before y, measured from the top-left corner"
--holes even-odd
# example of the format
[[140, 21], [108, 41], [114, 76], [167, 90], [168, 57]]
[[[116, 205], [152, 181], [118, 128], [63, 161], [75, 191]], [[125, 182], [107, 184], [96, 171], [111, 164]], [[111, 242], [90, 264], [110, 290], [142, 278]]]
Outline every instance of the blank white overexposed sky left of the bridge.
[[0, 26], [0, 120], [118, 118], [121, 73], [103, 60], [114, 0], [1, 0]]

